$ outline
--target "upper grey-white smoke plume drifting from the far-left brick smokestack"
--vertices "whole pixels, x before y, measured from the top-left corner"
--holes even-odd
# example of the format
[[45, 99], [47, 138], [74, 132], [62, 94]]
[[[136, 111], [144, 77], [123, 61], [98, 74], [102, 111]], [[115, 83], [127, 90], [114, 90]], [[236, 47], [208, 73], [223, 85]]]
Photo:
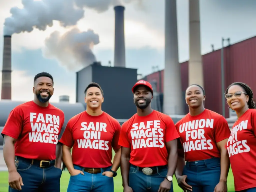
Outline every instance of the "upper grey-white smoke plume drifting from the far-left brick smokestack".
[[53, 25], [53, 20], [61, 26], [73, 26], [83, 18], [84, 10], [75, 6], [74, 0], [22, 0], [23, 8], [12, 7], [11, 16], [5, 19], [4, 34], [12, 35], [33, 28], [46, 30]]

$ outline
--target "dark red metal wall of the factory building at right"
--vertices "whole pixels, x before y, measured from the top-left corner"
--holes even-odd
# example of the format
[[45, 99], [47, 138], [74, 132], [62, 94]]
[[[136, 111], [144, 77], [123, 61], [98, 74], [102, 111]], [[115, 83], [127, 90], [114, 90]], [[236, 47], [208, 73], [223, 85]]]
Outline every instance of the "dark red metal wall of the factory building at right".
[[[222, 114], [221, 97], [221, 50], [202, 56], [204, 71], [204, 89], [206, 92], [205, 107]], [[188, 87], [188, 61], [180, 63], [182, 91]], [[225, 90], [232, 82], [244, 82], [256, 91], [256, 37], [238, 42], [224, 48]], [[144, 78], [156, 81], [157, 91], [163, 92], [164, 70], [152, 73]], [[256, 92], [255, 92], [256, 95]], [[185, 95], [184, 95], [185, 97]], [[185, 111], [188, 112], [187, 106]], [[228, 105], [225, 105], [226, 117], [229, 116]]]

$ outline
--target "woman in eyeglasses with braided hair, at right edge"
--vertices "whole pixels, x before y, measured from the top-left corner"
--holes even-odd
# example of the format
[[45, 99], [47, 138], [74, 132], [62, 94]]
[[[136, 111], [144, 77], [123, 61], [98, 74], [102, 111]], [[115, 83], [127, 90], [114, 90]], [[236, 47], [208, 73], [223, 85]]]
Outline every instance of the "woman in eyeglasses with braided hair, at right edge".
[[227, 142], [235, 190], [256, 192], [256, 110], [253, 93], [247, 84], [235, 82], [227, 88], [225, 97], [238, 118]]

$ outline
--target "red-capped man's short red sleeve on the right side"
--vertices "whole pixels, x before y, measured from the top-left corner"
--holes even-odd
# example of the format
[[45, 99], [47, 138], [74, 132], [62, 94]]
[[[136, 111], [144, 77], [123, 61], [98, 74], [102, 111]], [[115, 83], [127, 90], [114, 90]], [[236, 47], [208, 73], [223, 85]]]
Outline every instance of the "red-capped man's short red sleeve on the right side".
[[174, 122], [169, 116], [167, 116], [165, 119], [165, 126], [165, 142], [169, 142], [179, 138], [179, 134], [176, 130]]

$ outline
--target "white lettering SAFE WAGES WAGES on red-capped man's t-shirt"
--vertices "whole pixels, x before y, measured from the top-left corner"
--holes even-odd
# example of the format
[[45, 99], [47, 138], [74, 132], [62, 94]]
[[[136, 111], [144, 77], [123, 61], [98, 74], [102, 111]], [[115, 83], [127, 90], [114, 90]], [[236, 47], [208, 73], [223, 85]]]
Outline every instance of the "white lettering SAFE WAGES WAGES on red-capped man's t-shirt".
[[161, 128], [161, 121], [147, 121], [134, 123], [131, 129], [133, 149], [146, 147], [164, 147], [164, 130]]

